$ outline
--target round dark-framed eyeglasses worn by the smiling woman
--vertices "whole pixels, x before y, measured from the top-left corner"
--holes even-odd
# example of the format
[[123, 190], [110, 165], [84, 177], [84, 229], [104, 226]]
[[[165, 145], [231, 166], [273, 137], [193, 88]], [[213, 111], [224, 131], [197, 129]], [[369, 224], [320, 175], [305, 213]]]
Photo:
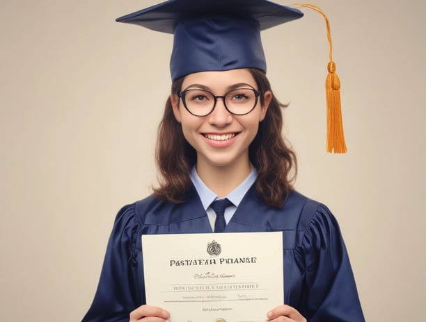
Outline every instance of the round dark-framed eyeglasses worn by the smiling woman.
[[233, 115], [246, 115], [254, 110], [258, 103], [260, 91], [253, 88], [237, 88], [223, 96], [214, 96], [207, 90], [184, 90], [179, 94], [184, 107], [192, 115], [205, 117], [213, 112], [217, 99], [222, 99], [226, 110]]

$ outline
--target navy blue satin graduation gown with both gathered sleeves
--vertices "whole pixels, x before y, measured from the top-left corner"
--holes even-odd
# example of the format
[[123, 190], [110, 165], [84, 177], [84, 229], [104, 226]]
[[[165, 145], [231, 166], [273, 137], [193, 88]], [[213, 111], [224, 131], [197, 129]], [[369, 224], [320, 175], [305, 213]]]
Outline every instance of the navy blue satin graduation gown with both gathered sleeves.
[[[282, 209], [270, 207], [253, 185], [225, 232], [264, 231], [283, 231], [285, 304], [310, 322], [365, 321], [340, 228], [327, 207], [297, 192]], [[141, 235], [200, 232], [212, 228], [194, 187], [181, 204], [149, 196], [123, 207], [83, 321], [129, 321], [129, 313], [146, 303]]]

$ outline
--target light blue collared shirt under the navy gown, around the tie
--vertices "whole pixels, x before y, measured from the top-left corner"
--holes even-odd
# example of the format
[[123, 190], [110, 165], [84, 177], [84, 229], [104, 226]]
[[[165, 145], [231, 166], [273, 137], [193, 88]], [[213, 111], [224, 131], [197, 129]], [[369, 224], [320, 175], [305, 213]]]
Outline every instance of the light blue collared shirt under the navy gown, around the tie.
[[[189, 176], [191, 178], [192, 183], [194, 183], [194, 186], [196, 187], [196, 190], [198, 192], [198, 195], [200, 196], [201, 203], [203, 203], [203, 207], [205, 212], [207, 212], [207, 217], [210, 221], [210, 226], [212, 226], [212, 230], [214, 230], [214, 221], [216, 220], [216, 213], [212, 208], [210, 208], [210, 205], [213, 201], [216, 199], [220, 199], [219, 196], [217, 196], [212, 190], [203, 183], [203, 180], [201, 180], [200, 176], [198, 176], [196, 167], [193, 167], [191, 170], [191, 173], [189, 173]], [[225, 221], [228, 224], [230, 219], [235, 213], [235, 210], [237, 210], [237, 207], [239, 203], [241, 203], [242, 198], [246, 195], [248, 192], [248, 189], [255, 183], [256, 178], [258, 178], [258, 171], [253, 168], [251, 169], [250, 174], [248, 174], [247, 178], [244, 179], [242, 183], [238, 187], [236, 187], [226, 198], [232, 203], [229, 207], [225, 210]]]

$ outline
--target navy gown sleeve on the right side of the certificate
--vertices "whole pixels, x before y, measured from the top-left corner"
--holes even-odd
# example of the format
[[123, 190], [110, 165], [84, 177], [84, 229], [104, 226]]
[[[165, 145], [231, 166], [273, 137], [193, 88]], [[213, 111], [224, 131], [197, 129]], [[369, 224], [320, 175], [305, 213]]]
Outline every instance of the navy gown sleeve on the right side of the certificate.
[[321, 204], [311, 218], [298, 250], [305, 274], [301, 312], [309, 322], [365, 321], [338, 222]]

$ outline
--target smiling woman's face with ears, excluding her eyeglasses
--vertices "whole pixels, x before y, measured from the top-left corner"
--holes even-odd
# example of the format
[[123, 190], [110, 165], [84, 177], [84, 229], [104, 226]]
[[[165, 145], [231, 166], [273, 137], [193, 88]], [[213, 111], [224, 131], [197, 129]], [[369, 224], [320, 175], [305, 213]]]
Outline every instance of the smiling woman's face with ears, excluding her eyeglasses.
[[[184, 78], [182, 90], [208, 90], [214, 96], [223, 96], [235, 88], [258, 90], [248, 69], [230, 71], [203, 71]], [[197, 170], [207, 171], [227, 167], [249, 172], [248, 146], [258, 133], [259, 122], [265, 118], [271, 101], [271, 92], [262, 93], [264, 105], [257, 105], [246, 115], [232, 115], [226, 110], [222, 99], [217, 99], [214, 110], [207, 116], [192, 115], [182, 99], [171, 95], [175, 118], [182, 124], [185, 139], [197, 152]], [[196, 97], [197, 100], [204, 99]], [[240, 96], [236, 96], [240, 99]], [[222, 168], [223, 169], [223, 168]]]

